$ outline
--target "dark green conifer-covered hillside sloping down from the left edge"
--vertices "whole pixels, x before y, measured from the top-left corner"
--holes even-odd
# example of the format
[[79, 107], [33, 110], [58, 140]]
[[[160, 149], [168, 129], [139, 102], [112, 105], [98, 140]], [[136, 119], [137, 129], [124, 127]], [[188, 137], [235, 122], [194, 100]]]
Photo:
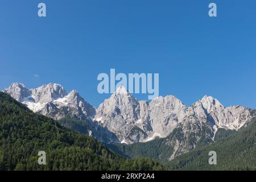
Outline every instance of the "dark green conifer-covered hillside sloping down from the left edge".
[[[38, 164], [39, 151], [46, 152], [46, 165]], [[0, 170], [163, 169], [149, 158], [125, 159], [0, 92]]]

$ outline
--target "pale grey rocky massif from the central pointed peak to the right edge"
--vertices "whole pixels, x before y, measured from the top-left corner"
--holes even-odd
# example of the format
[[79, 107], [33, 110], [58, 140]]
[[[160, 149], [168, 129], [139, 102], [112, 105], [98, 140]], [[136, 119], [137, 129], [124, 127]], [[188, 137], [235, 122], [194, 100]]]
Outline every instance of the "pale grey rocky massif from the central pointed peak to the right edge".
[[[243, 107], [225, 109], [212, 96], [204, 96], [189, 107], [172, 95], [156, 97], [150, 103], [137, 101], [125, 88], [119, 87], [117, 92], [100, 105], [95, 121], [100, 121], [104, 127], [115, 133], [120, 141], [134, 143], [146, 142], [147, 139], [154, 138], [154, 135], [167, 137], [177, 127], [183, 129], [186, 126], [185, 133], [201, 131], [200, 128], [192, 131], [189, 129], [191, 125], [209, 127], [208, 135], [214, 137], [218, 127], [237, 129], [243, 126], [250, 119], [247, 113]], [[131, 135], [130, 131], [134, 127], [144, 131], [143, 136], [138, 138], [133, 132], [134, 135]]]

